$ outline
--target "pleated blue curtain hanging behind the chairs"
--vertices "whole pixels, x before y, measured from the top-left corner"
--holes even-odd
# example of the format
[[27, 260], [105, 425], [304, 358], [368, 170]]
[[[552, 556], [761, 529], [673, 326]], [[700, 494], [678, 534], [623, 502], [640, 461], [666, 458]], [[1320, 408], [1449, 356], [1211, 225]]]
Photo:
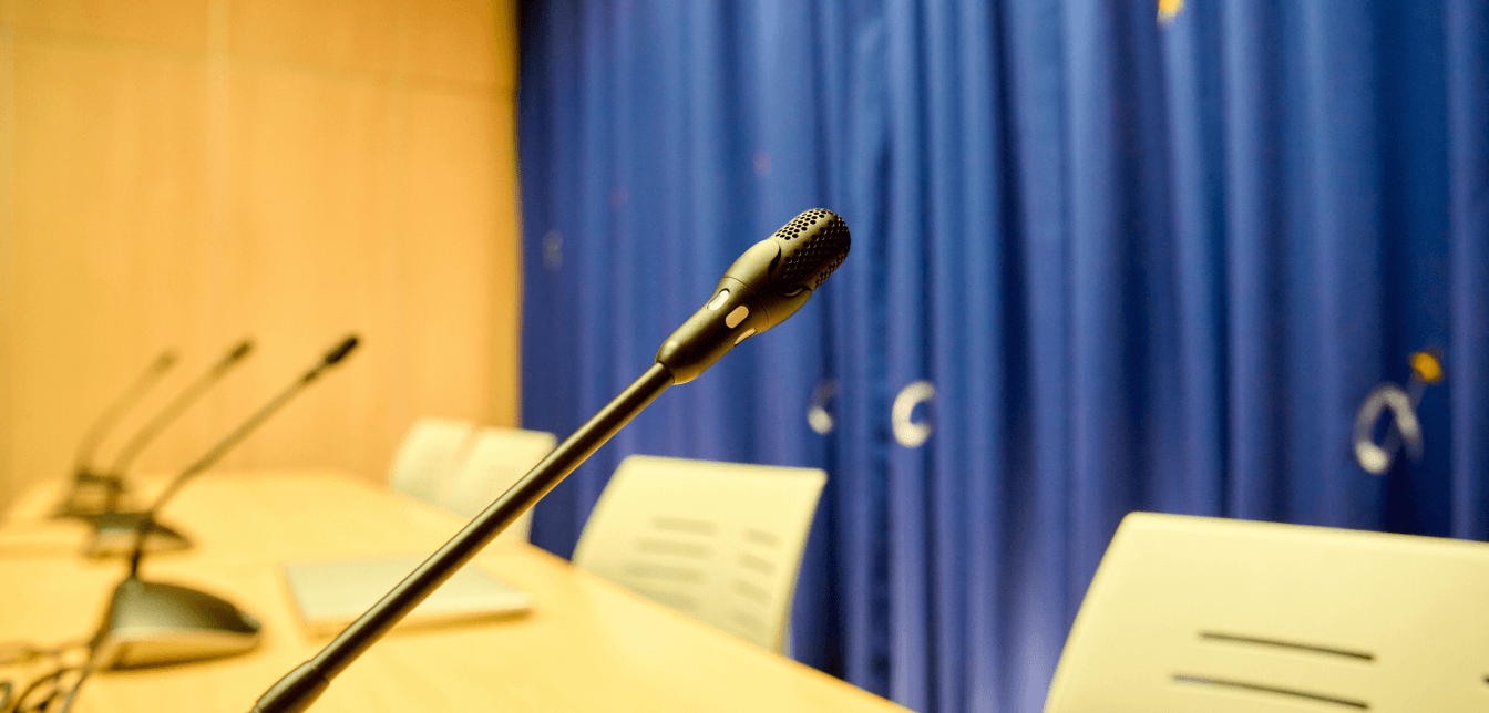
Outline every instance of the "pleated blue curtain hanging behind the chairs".
[[[526, 427], [575, 429], [797, 213], [853, 235], [535, 542], [567, 555], [630, 453], [823, 467], [795, 655], [1033, 713], [1130, 511], [1489, 539], [1485, 3], [1155, 10], [526, 3]], [[1355, 414], [1423, 347], [1425, 454], [1368, 475]]]

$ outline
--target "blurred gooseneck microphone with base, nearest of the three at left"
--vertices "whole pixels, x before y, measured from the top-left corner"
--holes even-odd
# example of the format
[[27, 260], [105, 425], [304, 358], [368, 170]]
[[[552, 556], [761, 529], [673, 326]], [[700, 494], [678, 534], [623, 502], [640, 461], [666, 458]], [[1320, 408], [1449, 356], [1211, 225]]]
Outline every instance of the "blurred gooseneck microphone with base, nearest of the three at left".
[[337, 344], [314, 368], [176, 475], [150, 508], [140, 514], [133, 530], [130, 575], [115, 586], [103, 624], [89, 642], [91, 661], [101, 668], [158, 665], [240, 653], [258, 645], [259, 622], [229, 601], [186, 586], [141, 579], [144, 540], [155, 515], [188, 481], [211, 467], [311, 381], [345, 359], [356, 345], [356, 336]]

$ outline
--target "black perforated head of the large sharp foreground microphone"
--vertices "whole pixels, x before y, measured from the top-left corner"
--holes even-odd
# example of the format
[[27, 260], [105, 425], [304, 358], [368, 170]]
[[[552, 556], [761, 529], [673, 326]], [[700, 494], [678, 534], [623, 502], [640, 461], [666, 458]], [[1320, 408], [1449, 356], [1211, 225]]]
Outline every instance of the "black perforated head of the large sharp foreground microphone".
[[746, 338], [801, 310], [847, 258], [852, 240], [835, 213], [809, 210], [744, 250], [709, 301], [657, 351], [675, 384], [692, 381]]

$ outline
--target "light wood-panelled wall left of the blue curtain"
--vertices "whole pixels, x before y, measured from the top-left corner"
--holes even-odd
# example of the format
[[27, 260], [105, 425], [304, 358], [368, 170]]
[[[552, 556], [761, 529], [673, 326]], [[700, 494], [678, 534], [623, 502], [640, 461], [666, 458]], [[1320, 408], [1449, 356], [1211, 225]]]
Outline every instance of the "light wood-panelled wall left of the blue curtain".
[[[0, 505], [255, 356], [140, 458], [170, 470], [357, 332], [225, 467], [381, 478], [418, 414], [515, 424], [511, 0], [0, 0]], [[106, 442], [112, 454], [121, 438]]]

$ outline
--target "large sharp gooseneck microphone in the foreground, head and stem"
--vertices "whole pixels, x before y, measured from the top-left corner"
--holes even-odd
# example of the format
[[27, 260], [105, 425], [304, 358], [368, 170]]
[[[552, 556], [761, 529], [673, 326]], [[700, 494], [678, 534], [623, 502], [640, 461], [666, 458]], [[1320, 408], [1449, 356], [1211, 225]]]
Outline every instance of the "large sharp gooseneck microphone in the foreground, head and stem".
[[692, 381], [737, 344], [800, 310], [812, 290], [843, 263], [847, 250], [847, 226], [826, 210], [809, 210], [746, 250], [724, 272], [713, 298], [663, 342], [657, 363], [646, 374], [558, 444], [320, 653], [274, 683], [253, 712], [292, 713], [310, 707], [347, 665], [667, 387]]

